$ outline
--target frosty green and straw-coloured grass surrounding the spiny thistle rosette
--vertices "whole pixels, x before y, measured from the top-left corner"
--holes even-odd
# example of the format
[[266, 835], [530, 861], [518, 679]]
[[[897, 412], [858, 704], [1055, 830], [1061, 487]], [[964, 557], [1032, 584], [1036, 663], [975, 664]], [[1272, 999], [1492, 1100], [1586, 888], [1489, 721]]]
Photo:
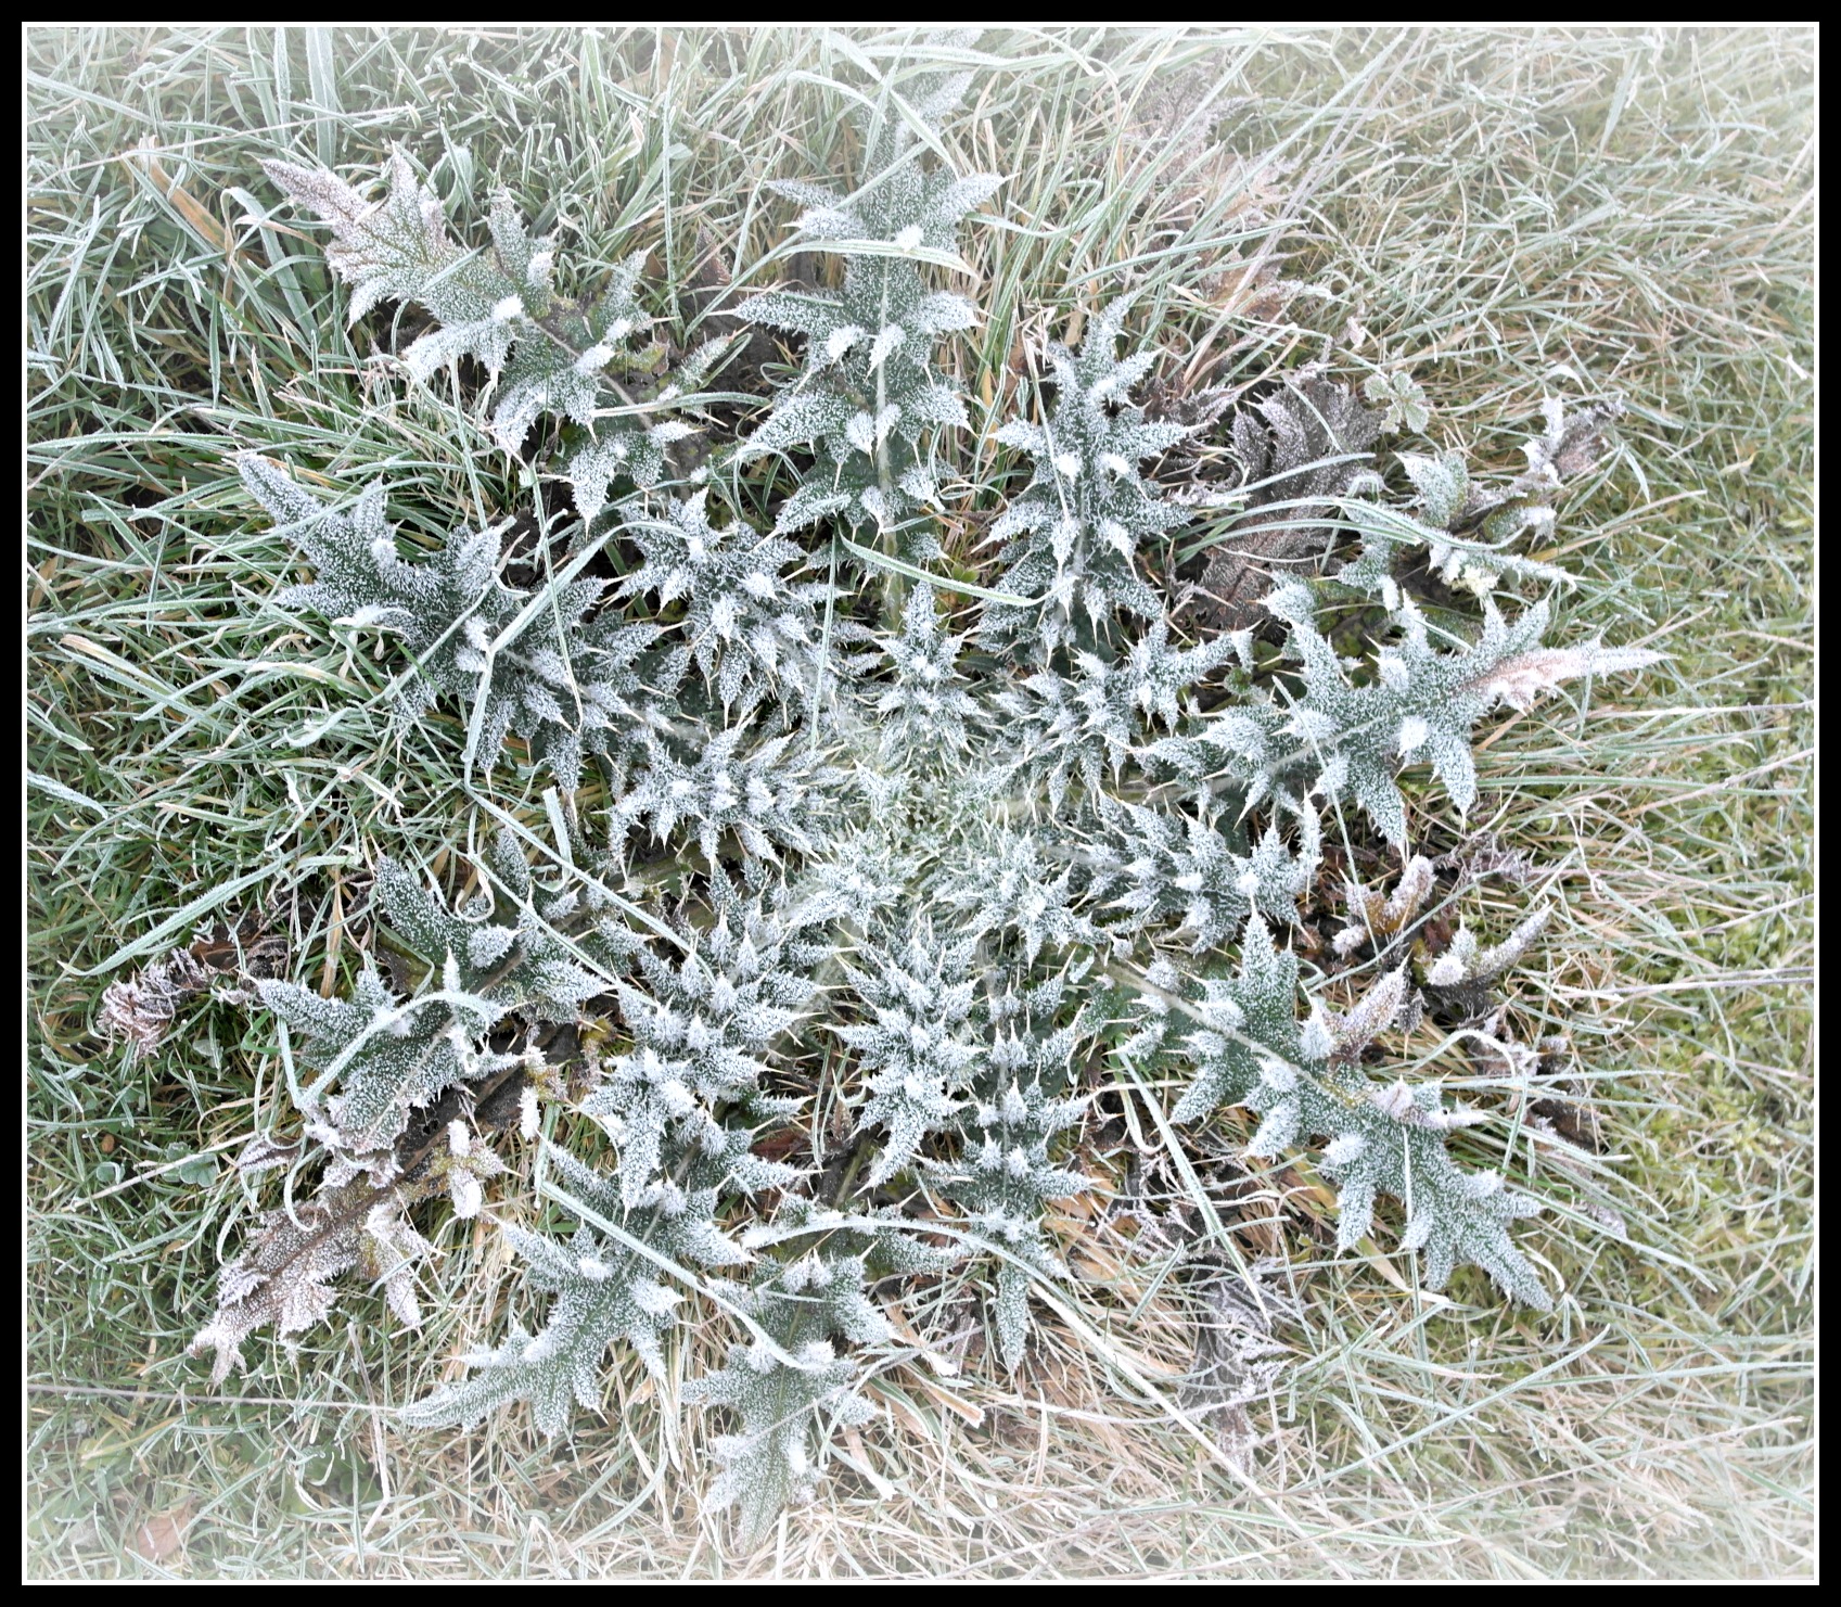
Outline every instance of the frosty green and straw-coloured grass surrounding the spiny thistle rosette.
[[[874, 42], [31, 37], [35, 1576], [729, 1567], [676, 1506], [700, 1443], [620, 1427], [659, 1388], [637, 1370], [609, 1386], [609, 1428], [562, 1462], [515, 1425], [385, 1427], [431, 1382], [418, 1357], [486, 1342], [492, 1312], [444, 1301], [416, 1357], [385, 1325], [320, 1331], [201, 1397], [175, 1358], [245, 1217], [217, 1162], [274, 1106], [272, 1046], [223, 1007], [133, 1066], [90, 1029], [118, 961], [258, 904], [339, 976], [368, 942], [346, 869], [366, 836], [438, 867], [464, 801], [455, 731], [401, 734], [385, 665], [265, 611], [295, 576], [243, 526], [225, 445], [291, 440], [479, 523], [517, 486], [495, 457], [451, 466], [458, 398], [379, 383], [318, 249], [265, 215], [256, 156], [374, 162], [405, 140], [442, 188], [508, 182], [538, 226], [576, 236], [585, 271], [637, 237], [683, 285], [705, 239], [735, 265], [773, 260], [764, 180], [847, 166], [825, 79]], [[965, 377], [1014, 374], [1013, 353], [1123, 276], [1187, 333], [1173, 379], [1252, 387], [1333, 350], [1346, 379], [1410, 374], [1482, 458], [1556, 385], [1624, 394], [1626, 449], [1576, 491], [1591, 536], [1554, 556], [1620, 639], [1664, 633], [1679, 679], [1510, 722], [1471, 821], [1546, 867], [1548, 972], [1519, 1007], [1570, 1038], [1609, 1154], [1567, 1178], [1578, 1204], [1545, 1241], [1569, 1289], [1550, 1325], [1462, 1279], [1401, 1301], [1368, 1272], [1307, 1266], [1302, 1353], [1252, 1486], [1173, 1414], [1189, 1327], [1169, 1274], [1095, 1257], [1105, 1301], [1049, 1312], [1013, 1397], [987, 1384], [974, 1412], [950, 1377], [884, 1379], [889, 1427], [847, 1441], [828, 1504], [788, 1515], [751, 1567], [1806, 1570], [1812, 40], [1351, 29], [979, 50], [1003, 66], [952, 138], [963, 168], [1014, 175], [1016, 226], [974, 241], [992, 313]], [[1198, 260], [1219, 263], [1211, 287]], [[1003, 383], [974, 398], [979, 440], [1009, 401]], [[499, 1287], [495, 1241], [447, 1233], [442, 1276]], [[676, 1386], [703, 1358], [670, 1362]]]

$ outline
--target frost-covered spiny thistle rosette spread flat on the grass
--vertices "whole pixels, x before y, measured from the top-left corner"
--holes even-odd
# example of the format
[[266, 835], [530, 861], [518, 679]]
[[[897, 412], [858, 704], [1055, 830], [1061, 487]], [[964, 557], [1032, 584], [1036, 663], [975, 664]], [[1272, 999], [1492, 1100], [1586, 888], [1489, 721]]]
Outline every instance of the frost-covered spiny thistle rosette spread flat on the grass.
[[[258, 983], [295, 1116], [245, 1171], [285, 1160], [317, 1193], [261, 1217], [225, 1268], [197, 1336], [217, 1377], [261, 1329], [322, 1320], [348, 1274], [416, 1325], [442, 1215], [479, 1217], [541, 1318], [508, 1318], [405, 1421], [528, 1403], [545, 1434], [574, 1432], [604, 1406], [609, 1349], [663, 1403], [672, 1336], [716, 1329], [725, 1360], [685, 1399], [714, 1416], [705, 1500], [753, 1543], [817, 1489], [832, 1436], [882, 1416], [880, 1371], [911, 1358], [895, 1318], [920, 1294], [965, 1292], [989, 1320], [983, 1366], [1027, 1386], [1036, 1292], [1077, 1294], [1083, 1219], [1062, 1206], [1116, 1184], [1101, 1101], [1125, 1093], [1162, 1101], [1149, 1127], [1184, 1167], [1226, 1147], [1329, 1180], [1346, 1254], [1386, 1231], [1390, 1198], [1429, 1287], [1475, 1265], [1552, 1305], [1513, 1231], [1539, 1198], [1473, 1132], [1506, 1130], [1513, 1104], [1451, 1103], [1414, 1042], [1429, 1003], [1506, 987], [1543, 917], [1502, 933], [1471, 911], [1436, 944], [1436, 871], [1412, 847], [1475, 804], [1493, 709], [1655, 659], [1543, 646], [1552, 571], [1513, 547], [1546, 528], [1578, 436], [1554, 412], [1506, 486], [1405, 457], [1397, 493], [1344, 473], [1381, 422], [1331, 381], [1222, 403], [1248, 466], [1302, 477], [1333, 561], [1267, 576], [1257, 609], [1210, 630], [1167, 538], [1224, 503], [1154, 479], [1193, 429], [1145, 409], [1160, 331], [1114, 300], [1077, 350], [1038, 353], [1053, 398], [1024, 390], [987, 444], [1020, 488], [967, 580], [944, 515], [968, 416], [935, 359], [979, 311], [932, 274], [1000, 180], [957, 177], [915, 133], [939, 136], [963, 90], [946, 75], [900, 112], [874, 101], [847, 193], [781, 186], [841, 285], [740, 304], [795, 342], [799, 376], [696, 480], [670, 453], [720, 353], [670, 370], [676, 331], [637, 344], [659, 302], [637, 243], [569, 300], [554, 243], [508, 201], [492, 245], [466, 249], [405, 153], [376, 202], [269, 164], [330, 225], [353, 318], [433, 317], [407, 381], [479, 364], [481, 440], [574, 503], [538, 510], [536, 578], [514, 584], [521, 508], [477, 532], [455, 515], [409, 552], [390, 486], [239, 458], [250, 521], [311, 569], [278, 604], [383, 633], [405, 729], [447, 740], [422, 723], [446, 699], [466, 808], [508, 828], [469, 852], [479, 821], [457, 817], [446, 885], [379, 841], [388, 966], [331, 996]], [[1309, 398], [1335, 440], [1298, 423]], [[1327, 445], [1335, 473], [1311, 471], [1302, 455]], [[1344, 896], [1326, 841], [1397, 860], [1399, 891]], [[1305, 942], [1331, 902], [1344, 933]], [[180, 977], [162, 1009], [186, 998]], [[565, 1220], [519, 1200], [534, 1189]], [[1270, 1329], [1243, 1351], [1235, 1379], [1268, 1382]], [[1250, 1403], [1232, 1393], [1243, 1417]]]

